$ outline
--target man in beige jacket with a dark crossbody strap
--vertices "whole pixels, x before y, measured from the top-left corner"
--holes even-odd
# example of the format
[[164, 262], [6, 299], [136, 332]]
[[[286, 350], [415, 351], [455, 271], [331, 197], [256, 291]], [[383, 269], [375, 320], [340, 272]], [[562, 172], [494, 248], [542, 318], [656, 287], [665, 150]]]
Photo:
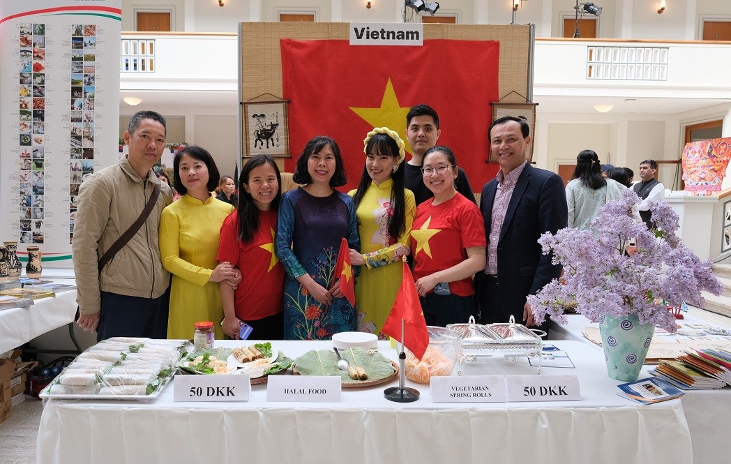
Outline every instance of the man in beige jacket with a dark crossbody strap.
[[[162, 115], [140, 111], [129, 120], [124, 141], [129, 154], [84, 180], [79, 189], [72, 253], [83, 330], [97, 340], [115, 336], [165, 338], [167, 286], [157, 243], [160, 213], [173, 201], [152, 167], [165, 149]], [[98, 270], [105, 251], [135, 223], [154, 189], [156, 205], [145, 223], [110, 262]]]

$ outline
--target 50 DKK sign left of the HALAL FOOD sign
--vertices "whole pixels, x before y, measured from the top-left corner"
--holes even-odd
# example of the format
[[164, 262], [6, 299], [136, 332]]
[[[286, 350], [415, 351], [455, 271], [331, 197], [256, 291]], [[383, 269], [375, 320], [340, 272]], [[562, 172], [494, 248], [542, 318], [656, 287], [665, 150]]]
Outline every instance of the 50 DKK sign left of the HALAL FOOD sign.
[[249, 401], [249, 376], [211, 374], [175, 376], [173, 401]]

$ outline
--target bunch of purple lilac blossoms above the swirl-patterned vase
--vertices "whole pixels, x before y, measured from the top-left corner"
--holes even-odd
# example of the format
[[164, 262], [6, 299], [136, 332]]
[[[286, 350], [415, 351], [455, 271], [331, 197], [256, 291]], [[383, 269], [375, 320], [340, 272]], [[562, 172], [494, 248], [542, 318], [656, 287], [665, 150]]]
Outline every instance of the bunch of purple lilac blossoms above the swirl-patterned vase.
[[[635, 315], [641, 324], [675, 332], [675, 316], [663, 300], [676, 308], [683, 301], [700, 306], [701, 290], [721, 293], [711, 261], [701, 262], [675, 235], [675, 211], [665, 202], [651, 201], [654, 229], [648, 230], [635, 220], [639, 201], [627, 189], [621, 199], [602, 207], [591, 229], [567, 227], [540, 237], [543, 253], [553, 252], [553, 263], [563, 265], [564, 275], [528, 297], [537, 324], [546, 314], [565, 324], [564, 308], [575, 303], [576, 312], [591, 322], [598, 322], [602, 314]], [[632, 238], [637, 253], [629, 256], [624, 251]]]

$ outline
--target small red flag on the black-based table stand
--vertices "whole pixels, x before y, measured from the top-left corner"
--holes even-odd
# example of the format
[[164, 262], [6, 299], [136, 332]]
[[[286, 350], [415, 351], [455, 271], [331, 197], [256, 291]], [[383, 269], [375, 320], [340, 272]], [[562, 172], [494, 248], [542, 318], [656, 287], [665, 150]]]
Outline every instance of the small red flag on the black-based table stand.
[[[404, 341], [401, 341], [401, 319], [406, 321], [404, 327]], [[398, 287], [393, 308], [381, 329], [382, 333], [404, 343], [415, 357], [421, 359], [429, 345], [429, 332], [426, 328], [424, 313], [421, 310], [419, 294], [414, 285], [414, 276], [409, 265], [404, 261], [404, 278]]]

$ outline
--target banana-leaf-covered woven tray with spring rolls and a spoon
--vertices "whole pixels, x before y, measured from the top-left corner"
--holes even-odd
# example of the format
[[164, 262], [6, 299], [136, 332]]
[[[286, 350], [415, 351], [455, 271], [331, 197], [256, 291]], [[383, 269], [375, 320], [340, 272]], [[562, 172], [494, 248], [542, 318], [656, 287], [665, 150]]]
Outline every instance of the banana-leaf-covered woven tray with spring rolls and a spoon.
[[308, 351], [292, 364], [292, 373], [300, 376], [340, 376], [343, 388], [371, 387], [385, 384], [398, 375], [398, 365], [378, 351], [363, 348], [340, 350], [349, 363], [348, 370], [338, 368], [334, 351]]

